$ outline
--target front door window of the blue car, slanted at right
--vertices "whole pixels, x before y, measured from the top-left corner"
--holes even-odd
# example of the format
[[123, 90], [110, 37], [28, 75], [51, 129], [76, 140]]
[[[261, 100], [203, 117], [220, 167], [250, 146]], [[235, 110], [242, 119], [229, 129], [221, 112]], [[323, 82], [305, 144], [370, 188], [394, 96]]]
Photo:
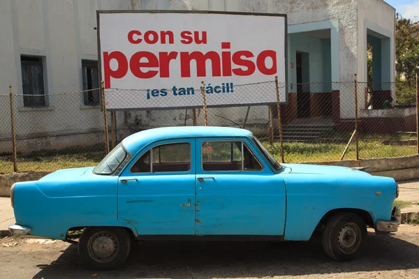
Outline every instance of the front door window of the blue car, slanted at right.
[[251, 171], [263, 168], [244, 142], [203, 142], [201, 153], [205, 172]]

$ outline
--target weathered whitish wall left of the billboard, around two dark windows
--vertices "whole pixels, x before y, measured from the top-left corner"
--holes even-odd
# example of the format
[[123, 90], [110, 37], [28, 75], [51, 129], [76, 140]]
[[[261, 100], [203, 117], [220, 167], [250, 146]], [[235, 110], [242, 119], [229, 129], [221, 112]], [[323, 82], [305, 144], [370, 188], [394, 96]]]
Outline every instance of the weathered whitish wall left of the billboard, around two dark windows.
[[[139, 8], [140, 1], [3, 0], [0, 1], [0, 94], [13, 86], [22, 94], [20, 55], [45, 56], [45, 93], [82, 89], [81, 59], [97, 59], [96, 10]], [[0, 97], [0, 100], [6, 97]], [[23, 106], [15, 98], [17, 135], [71, 133], [103, 126], [100, 109], [84, 109], [80, 93], [50, 96], [49, 107]], [[80, 109], [82, 107], [83, 109]], [[10, 135], [7, 101], [0, 103], [0, 137]]]

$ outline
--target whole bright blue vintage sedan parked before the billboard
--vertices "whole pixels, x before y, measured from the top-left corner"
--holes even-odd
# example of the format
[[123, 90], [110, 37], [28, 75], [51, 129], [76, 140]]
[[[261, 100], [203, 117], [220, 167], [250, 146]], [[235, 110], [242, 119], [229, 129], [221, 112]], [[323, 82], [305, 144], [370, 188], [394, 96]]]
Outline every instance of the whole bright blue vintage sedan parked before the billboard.
[[394, 179], [347, 167], [279, 164], [249, 130], [177, 127], [126, 137], [96, 167], [15, 183], [10, 232], [75, 243], [95, 269], [124, 263], [131, 241], [308, 241], [359, 256], [367, 225], [396, 232]]

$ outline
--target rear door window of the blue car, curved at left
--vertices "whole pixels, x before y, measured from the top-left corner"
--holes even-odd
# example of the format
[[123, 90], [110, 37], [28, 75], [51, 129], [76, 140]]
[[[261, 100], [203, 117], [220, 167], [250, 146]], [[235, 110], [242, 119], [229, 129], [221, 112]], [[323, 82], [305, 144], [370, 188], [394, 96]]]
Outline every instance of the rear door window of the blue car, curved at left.
[[131, 173], [188, 172], [191, 169], [191, 144], [179, 142], [154, 146], [131, 167]]

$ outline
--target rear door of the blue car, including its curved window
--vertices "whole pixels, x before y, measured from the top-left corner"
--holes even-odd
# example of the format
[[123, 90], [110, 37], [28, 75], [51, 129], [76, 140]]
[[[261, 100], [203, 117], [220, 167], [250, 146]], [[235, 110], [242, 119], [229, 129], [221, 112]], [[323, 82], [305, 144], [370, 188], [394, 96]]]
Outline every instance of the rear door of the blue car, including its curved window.
[[145, 148], [118, 181], [118, 219], [138, 234], [195, 234], [194, 139]]

